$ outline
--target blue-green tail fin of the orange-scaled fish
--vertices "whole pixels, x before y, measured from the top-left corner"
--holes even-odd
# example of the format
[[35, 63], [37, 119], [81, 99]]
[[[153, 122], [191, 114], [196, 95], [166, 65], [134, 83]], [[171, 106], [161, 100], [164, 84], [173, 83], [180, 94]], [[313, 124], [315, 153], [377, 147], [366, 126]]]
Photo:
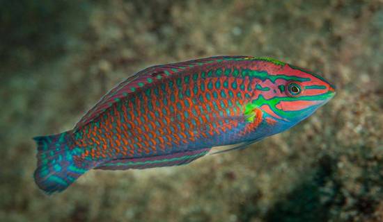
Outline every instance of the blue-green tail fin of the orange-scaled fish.
[[35, 182], [47, 194], [63, 191], [92, 164], [81, 161], [79, 148], [72, 140], [71, 132], [45, 137], [34, 137], [38, 144], [38, 164], [34, 173]]

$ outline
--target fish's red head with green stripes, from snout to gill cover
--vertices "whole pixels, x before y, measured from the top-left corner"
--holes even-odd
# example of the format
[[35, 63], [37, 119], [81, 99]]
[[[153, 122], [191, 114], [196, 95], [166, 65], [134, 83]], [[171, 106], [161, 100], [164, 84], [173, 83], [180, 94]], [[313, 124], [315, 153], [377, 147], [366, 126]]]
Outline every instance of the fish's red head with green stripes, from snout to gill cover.
[[263, 70], [251, 108], [262, 111], [267, 135], [295, 126], [335, 95], [334, 85], [312, 71], [282, 62]]

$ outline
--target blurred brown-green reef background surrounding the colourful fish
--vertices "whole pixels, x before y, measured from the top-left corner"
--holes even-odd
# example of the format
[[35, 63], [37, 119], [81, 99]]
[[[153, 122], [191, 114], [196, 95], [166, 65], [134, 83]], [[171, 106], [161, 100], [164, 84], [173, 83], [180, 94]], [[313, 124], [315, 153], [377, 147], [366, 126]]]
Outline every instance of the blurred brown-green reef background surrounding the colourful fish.
[[[0, 221], [383, 221], [383, 1], [0, 0]], [[150, 65], [271, 56], [337, 94], [243, 151], [182, 167], [33, 182], [60, 133]]]

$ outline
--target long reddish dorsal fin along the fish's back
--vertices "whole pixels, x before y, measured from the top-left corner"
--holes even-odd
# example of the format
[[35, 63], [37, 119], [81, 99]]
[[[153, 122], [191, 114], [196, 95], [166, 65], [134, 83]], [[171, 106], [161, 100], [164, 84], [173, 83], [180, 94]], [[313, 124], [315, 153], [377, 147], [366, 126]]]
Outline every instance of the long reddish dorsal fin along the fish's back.
[[116, 85], [107, 94], [105, 94], [100, 101], [98, 101], [91, 110], [86, 112], [84, 117], [76, 124], [75, 130], [87, 123], [93, 121], [105, 110], [110, 108], [114, 103], [120, 101], [124, 97], [136, 91], [136, 89], [154, 84], [163, 78], [169, 78], [173, 74], [178, 74], [180, 71], [185, 71], [193, 67], [205, 65], [213, 62], [221, 62], [224, 60], [248, 60], [252, 59], [251, 56], [214, 56], [210, 58], [201, 58], [198, 60], [189, 60], [185, 62], [177, 62], [166, 65], [155, 65], [139, 71], [138, 73], [130, 76], [120, 84]]

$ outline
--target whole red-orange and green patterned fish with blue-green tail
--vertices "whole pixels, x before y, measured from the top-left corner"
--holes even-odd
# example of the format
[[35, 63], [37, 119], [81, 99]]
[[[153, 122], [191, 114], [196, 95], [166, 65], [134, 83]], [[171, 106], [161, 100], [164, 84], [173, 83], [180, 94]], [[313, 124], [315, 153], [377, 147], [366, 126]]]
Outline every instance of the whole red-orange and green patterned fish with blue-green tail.
[[318, 74], [267, 57], [155, 65], [107, 92], [72, 130], [34, 137], [34, 179], [53, 194], [91, 169], [189, 164], [281, 133], [334, 95]]

